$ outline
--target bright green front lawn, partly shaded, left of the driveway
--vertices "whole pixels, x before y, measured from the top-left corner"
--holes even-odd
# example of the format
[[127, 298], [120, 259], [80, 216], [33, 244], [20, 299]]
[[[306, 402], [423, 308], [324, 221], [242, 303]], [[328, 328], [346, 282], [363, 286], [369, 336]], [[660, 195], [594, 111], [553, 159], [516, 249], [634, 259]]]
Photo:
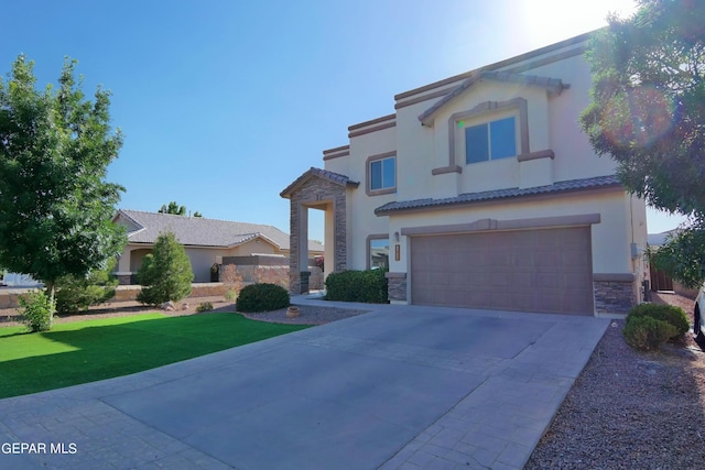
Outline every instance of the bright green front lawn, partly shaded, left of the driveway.
[[0, 398], [94, 382], [307, 328], [235, 314], [162, 314], [0, 328]]

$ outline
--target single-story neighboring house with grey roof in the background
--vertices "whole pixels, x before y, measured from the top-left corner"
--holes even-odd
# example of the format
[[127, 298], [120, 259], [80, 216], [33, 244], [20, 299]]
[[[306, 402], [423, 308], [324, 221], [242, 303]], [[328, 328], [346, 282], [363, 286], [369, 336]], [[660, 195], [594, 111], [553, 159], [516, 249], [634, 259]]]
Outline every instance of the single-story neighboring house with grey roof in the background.
[[[132, 284], [142, 260], [162, 232], [172, 231], [184, 245], [194, 271], [194, 282], [209, 282], [210, 269], [227, 256], [289, 259], [289, 234], [272, 226], [202, 217], [120, 209], [112, 219], [128, 230], [128, 243], [120, 255], [116, 275], [120, 284]], [[308, 242], [308, 256], [323, 254], [324, 248]]]

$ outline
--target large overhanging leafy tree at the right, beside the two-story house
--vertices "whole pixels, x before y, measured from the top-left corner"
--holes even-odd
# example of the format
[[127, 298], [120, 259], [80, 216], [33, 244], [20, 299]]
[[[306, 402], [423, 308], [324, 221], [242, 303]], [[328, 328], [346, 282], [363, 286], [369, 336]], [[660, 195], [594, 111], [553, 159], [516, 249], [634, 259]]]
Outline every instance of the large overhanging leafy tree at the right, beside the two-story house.
[[588, 45], [592, 103], [581, 117], [625, 187], [687, 216], [652, 261], [686, 285], [705, 278], [705, 2], [642, 0]]

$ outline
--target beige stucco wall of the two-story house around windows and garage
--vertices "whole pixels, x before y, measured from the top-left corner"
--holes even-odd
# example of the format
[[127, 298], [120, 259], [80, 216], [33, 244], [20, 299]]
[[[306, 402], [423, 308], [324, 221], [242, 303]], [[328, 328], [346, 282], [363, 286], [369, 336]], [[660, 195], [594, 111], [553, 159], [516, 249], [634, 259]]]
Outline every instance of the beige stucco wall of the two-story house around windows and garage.
[[[579, 45], [565, 51], [577, 51]], [[550, 55], [562, 54], [554, 51]], [[615, 174], [616, 163], [609, 157], [598, 157], [578, 123], [581, 113], [589, 105], [590, 70], [581, 54], [551, 62], [545, 57], [530, 57], [508, 63], [503, 69], [524, 75], [561, 79], [568, 87], [560, 94], [549, 92], [539, 86], [481, 80], [454, 98], [434, 114], [433, 124], [423, 127], [419, 116], [436, 101], [438, 94], [451, 91], [463, 80], [446, 83], [435, 88], [405, 96], [404, 105], [395, 109], [395, 127], [356, 135], [349, 140], [349, 155], [325, 161], [325, 168], [360, 182], [360, 187], [347, 190], [347, 253], [349, 269], [367, 265], [367, 237], [388, 233], [390, 238], [390, 271], [409, 273], [408, 238], [401, 237], [401, 260], [393, 260], [393, 234], [402, 228], [470, 223], [479, 219], [530, 219], [599, 214], [600, 223], [592, 226], [594, 273], [627, 274], [643, 278], [646, 265], [641, 253], [646, 247], [646, 206], [621, 190], [598, 190], [551, 195], [542, 198], [507, 199], [491, 204], [434, 208], [426, 211], [400, 212], [391, 217], [377, 217], [375, 209], [389, 201], [422, 198], [454, 197], [465, 193], [492, 189], [533, 187], [571, 179]], [[533, 68], [522, 68], [527, 64]], [[536, 65], [539, 64], [539, 65]], [[500, 68], [502, 69], [502, 68]], [[433, 97], [433, 95], [436, 95]], [[423, 97], [429, 97], [423, 99]], [[475, 109], [486, 101], [525, 100], [529, 152], [553, 151], [554, 159], [543, 157], [519, 162], [503, 159], [495, 162], [465, 164], [462, 129], [451, 132], [453, 117]], [[419, 102], [409, 105], [412, 100]], [[475, 121], [506, 116], [517, 116], [517, 109], [501, 109], [497, 113], [470, 117], [466, 125]], [[373, 125], [370, 125], [370, 129]], [[519, 129], [517, 130], [519, 132]], [[520, 135], [517, 136], [520, 146]], [[462, 173], [447, 172], [433, 175], [434, 168], [447, 167], [452, 162], [451, 147], [455, 146], [455, 164]], [[366, 162], [375, 154], [397, 152], [395, 194], [373, 196], [366, 194]], [[631, 243], [636, 243], [638, 256], [632, 258]], [[328, 244], [326, 240], [326, 244]], [[639, 293], [634, 293], [640, 298]]]

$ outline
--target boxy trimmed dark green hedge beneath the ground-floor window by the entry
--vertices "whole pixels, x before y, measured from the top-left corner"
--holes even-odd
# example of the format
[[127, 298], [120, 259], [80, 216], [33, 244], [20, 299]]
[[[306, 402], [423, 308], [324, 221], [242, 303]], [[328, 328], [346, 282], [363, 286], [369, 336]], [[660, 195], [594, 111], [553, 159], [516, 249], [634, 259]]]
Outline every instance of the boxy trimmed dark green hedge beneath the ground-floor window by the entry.
[[384, 270], [343, 271], [326, 277], [326, 300], [386, 304], [388, 284]]

